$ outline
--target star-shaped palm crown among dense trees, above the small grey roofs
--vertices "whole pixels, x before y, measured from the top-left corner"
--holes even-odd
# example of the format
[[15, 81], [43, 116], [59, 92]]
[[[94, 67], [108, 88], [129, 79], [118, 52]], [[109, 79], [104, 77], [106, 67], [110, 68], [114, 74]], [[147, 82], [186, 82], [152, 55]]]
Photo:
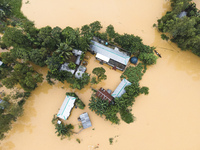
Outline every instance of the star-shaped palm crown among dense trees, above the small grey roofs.
[[70, 56], [72, 56], [72, 50], [73, 49], [66, 43], [60, 43], [58, 49], [56, 50], [56, 53], [58, 53], [60, 57], [64, 57], [66, 61], [70, 58]]

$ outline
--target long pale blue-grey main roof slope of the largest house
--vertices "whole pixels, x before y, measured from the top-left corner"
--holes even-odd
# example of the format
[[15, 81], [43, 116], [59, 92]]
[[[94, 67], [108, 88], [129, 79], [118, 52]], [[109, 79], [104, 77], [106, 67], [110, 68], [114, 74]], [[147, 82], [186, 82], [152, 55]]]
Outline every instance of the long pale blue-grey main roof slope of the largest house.
[[113, 50], [107, 46], [104, 46], [98, 42], [95, 42], [93, 40], [91, 40], [92, 44], [90, 45], [90, 48], [92, 49], [92, 51], [94, 51], [95, 53], [99, 53], [101, 55], [104, 55], [108, 58], [111, 58], [115, 61], [118, 61], [124, 65], [127, 65], [130, 57], [120, 51], [116, 51]]

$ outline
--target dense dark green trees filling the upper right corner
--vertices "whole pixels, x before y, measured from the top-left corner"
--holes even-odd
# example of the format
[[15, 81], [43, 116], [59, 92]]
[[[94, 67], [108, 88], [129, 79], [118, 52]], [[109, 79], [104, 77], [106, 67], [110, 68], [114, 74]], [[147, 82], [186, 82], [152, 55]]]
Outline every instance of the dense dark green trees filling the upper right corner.
[[[191, 50], [200, 56], [200, 11], [192, 0], [170, 0], [172, 10], [158, 19], [158, 30], [163, 39], [177, 43], [182, 50]], [[187, 12], [180, 17], [181, 12]]]

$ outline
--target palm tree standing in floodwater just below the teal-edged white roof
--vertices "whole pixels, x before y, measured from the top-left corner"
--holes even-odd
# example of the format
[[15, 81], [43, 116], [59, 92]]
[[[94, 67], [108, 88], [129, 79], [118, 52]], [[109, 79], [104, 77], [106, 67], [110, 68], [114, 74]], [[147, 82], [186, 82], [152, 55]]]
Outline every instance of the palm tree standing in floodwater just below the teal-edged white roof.
[[57, 136], [61, 136], [61, 139], [64, 139], [66, 136], [70, 137], [73, 134], [72, 129], [74, 129], [74, 126], [69, 124], [69, 125], [64, 125], [63, 123], [61, 124], [56, 124], [56, 132], [58, 133]]

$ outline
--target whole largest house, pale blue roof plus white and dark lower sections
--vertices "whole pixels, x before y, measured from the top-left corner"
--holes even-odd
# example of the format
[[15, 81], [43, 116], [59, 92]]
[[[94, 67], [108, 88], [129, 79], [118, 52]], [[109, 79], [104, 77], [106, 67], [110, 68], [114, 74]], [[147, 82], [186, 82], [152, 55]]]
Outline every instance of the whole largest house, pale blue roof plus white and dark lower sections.
[[103, 44], [91, 40], [91, 52], [96, 54], [96, 59], [116, 69], [124, 70], [129, 62], [130, 56], [118, 49], [109, 48]]

